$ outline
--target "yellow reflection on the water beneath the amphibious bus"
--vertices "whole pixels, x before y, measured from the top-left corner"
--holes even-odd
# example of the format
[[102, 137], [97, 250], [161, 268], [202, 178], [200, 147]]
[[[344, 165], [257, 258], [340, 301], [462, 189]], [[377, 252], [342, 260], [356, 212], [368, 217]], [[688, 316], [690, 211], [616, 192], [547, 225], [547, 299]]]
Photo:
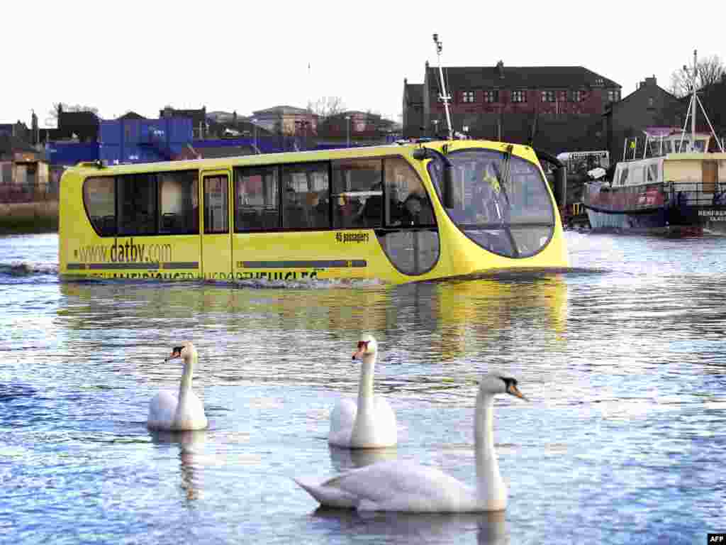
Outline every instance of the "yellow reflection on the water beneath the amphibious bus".
[[145, 284], [129, 290], [117, 283], [63, 283], [61, 291], [70, 304], [59, 310], [59, 319], [68, 331], [102, 328], [110, 339], [118, 326], [155, 331], [159, 315], [174, 315], [195, 331], [219, 328], [242, 344], [254, 344], [246, 336], [258, 339], [271, 332], [292, 346], [309, 344], [311, 333], [369, 331], [385, 339], [391, 331], [415, 331], [411, 339], [431, 339], [445, 359], [477, 352], [484, 344], [508, 344], [497, 336], [510, 331], [538, 331], [546, 350], [566, 333], [568, 305], [562, 275], [522, 271], [399, 286]]

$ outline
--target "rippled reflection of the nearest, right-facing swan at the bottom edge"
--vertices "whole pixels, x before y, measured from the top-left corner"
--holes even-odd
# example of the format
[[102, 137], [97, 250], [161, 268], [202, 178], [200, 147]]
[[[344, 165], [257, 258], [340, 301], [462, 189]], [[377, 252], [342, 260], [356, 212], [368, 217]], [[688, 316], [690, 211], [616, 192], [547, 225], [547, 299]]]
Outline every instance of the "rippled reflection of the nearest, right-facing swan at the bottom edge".
[[423, 543], [435, 539], [436, 543], [465, 544], [473, 543], [468, 536], [476, 532], [478, 545], [505, 545], [510, 542], [505, 514], [505, 511], [452, 514], [359, 512], [319, 507], [312, 517], [335, 532], [380, 536], [380, 541], [386, 543], [410, 543], [414, 537]]

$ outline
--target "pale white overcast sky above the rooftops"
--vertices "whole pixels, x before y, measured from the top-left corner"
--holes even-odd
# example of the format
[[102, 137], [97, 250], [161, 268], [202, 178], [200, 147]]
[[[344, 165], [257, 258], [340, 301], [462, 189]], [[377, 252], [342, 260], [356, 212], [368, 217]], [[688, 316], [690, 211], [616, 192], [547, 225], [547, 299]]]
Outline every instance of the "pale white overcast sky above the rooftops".
[[444, 66], [581, 65], [623, 96], [653, 75], [668, 89], [693, 49], [726, 57], [722, 4], [690, 5], [711, 3], [9, 1], [0, 123], [35, 110], [46, 126], [54, 102], [102, 118], [164, 105], [248, 116], [327, 96], [398, 119], [404, 78], [422, 83], [437, 62], [434, 32]]

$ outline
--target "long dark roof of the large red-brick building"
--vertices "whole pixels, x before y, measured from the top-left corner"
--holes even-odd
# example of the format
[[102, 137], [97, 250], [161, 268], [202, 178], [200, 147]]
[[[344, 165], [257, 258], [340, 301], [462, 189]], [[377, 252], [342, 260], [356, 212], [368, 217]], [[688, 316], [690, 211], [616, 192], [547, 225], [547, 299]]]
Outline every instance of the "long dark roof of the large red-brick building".
[[[438, 89], [439, 68], [427, 65], [426, 70], [429, 86]], [[496, 66], [444, 67], [444, 78], [452, 89], [620, 87], [583, 66], [505, 66], [501, 61]]]

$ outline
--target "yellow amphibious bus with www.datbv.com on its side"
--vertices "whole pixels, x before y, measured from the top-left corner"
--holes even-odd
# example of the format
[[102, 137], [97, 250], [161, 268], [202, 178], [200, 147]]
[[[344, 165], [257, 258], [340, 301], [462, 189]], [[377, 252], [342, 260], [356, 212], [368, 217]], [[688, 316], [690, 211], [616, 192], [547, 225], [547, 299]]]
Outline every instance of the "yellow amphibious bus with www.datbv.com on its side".
[[60, 185], [64, 278], [379, 279], [566, 267], [534, 150], [479, 140], [103, 166]]

